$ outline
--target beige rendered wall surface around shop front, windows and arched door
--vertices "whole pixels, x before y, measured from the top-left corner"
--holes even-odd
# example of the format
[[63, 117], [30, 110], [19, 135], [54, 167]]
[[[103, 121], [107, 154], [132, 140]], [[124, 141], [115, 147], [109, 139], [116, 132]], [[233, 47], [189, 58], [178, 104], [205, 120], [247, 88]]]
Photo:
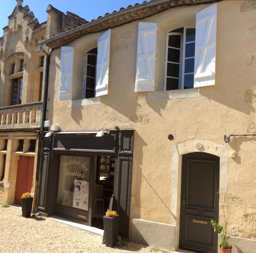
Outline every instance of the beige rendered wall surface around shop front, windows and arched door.
[[[131, 219], [173, 224], [173, 146], [199, 139], [228, 150], [229, 234], [256, 239], [256, 138], [231, 137], [228, 144], [223, 140], [224, 134], [255, 132], [256, 10], [249, 2], [217, 3], [215, 85], [202, 87], [198, 96], [189, 96], [197, 90], [180, 90], [165, 94], [187, 98], [151, 100], [156, 92], [134, 92], [138, 21], [111, 29], [109, 88], [99, 104], [70, 106], [58, 101], [61, 49], [52, 52], [46, 117], [51, 124], [62, 130], [135, 129]], [[163, 90], [165, 33], [184, 23], [194, 26], [195, 14], [205, 7], [170, 9], [143, 20], [158, 25], [156, 91]], [[99, 36], [86, 35], [70, 46], [86, 52]], [[79, 67], [74, 59], [74, 69]], [[73, 87], [81, 88], [82, 82]], [[167, 139], [170, 133], [172, 141]]]

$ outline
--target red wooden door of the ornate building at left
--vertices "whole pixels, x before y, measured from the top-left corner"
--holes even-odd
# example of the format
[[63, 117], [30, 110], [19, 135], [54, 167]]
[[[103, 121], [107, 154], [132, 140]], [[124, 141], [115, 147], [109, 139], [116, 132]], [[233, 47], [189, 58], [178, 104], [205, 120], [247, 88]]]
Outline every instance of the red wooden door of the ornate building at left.
[[21, 204], [21, 195], [33, 186], [34, 156], [21, 155], [18, 160], [14, 203]]

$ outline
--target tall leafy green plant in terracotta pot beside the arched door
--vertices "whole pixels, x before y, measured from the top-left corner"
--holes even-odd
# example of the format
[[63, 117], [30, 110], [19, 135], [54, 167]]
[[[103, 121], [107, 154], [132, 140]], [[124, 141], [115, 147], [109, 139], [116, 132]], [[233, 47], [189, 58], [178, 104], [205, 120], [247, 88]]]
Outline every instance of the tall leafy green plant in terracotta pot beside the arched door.
[[227, 217], [224, 210], [224, 205], [222, 201], [222, 197], [220, 198], [220, 204], [222, 207], [222, 215], [223, 215], [223, 226], [217, 223], [215, 220], [211, 220], [214, 232], [217, 232], [221, 236], [219, 250], [220, 253], [231, 253], [232, 246], [228, 243], [229, 236], [227, 236]]

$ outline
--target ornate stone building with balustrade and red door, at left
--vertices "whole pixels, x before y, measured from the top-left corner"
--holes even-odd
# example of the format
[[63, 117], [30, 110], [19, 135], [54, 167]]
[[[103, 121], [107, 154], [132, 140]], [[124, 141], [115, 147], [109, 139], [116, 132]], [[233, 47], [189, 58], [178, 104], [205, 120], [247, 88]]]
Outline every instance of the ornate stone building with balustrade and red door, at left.
[[38, 42], [85, 22], [49, 5], [47, 20], [39, 23], [29, 7], [22, 6], [23, 0], [15, 2], [0, 38], [0, 202], [9, 204], [20, 204], [24, 192], [31, 192], [36, 201], [45, 75]]

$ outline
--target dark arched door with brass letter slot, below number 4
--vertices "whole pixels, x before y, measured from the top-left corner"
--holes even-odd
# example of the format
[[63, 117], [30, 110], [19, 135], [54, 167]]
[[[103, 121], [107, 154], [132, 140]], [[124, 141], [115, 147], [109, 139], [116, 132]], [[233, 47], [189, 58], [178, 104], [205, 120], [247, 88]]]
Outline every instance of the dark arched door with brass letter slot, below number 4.
[[180, 248], [217, 252], [211, 219], [219, 215], [219, 157], [195, 152], [182, 157]]

